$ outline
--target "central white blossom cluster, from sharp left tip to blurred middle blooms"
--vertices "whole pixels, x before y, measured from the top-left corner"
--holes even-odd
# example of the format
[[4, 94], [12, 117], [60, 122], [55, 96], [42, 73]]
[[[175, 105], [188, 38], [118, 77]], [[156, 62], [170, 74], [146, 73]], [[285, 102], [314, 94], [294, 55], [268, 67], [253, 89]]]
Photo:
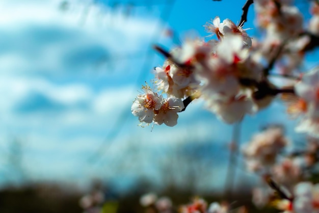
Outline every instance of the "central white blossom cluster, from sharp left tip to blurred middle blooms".
[[[227, 123], [241, 120], [245, 114], [253, 114], [269, 104], [262, 101], [266, 97], [254, 98], [257, 88], [253, 84], [245, 85], [260, 82], [263, 67], [249, 55], [252, 42], [242, 27], [229, 19], [220, 23], [216, 17], [212, 24], [206, 24], [206, 29], [216, 33], [220, 40], [188, 40], [166, 52], [168, 59], [163, 67], [154, 69], [156, 92], [166, 93], [167, 100], [174, 105], [165, 108], [170, 110], [161, 110], [164, 98], [144, 87], [145, 93], [138, 96], [131, 108], [141, 122], [175, 125], [175, 113], [183, 109], [180, 102], [188, 97], [201, 96], [206, 107]], [[173, 116], [174, 122], [168, 121], [169, 116]]]

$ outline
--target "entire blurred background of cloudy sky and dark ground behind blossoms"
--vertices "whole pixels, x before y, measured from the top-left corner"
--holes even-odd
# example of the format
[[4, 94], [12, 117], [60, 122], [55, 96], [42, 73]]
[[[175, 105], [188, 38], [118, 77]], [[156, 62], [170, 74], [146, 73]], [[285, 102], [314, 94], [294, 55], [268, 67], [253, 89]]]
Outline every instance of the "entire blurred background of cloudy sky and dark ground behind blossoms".
[[[199, 100], [175, 127], [142, 128], [130, 113], [165, 60], [153, 44], [211, 39], [203, 25], [215, 16], [236, 23], [244, 3], [1, 0], [0, 212], [83, 212], [103, 199], [112, 201], [104, 212], [141, 212], [148, 192], [180, 202], [221, 196], [233, 128], [239, 143], [272, 123], [302, 138], [279, 101], [240, 127], [218, 121]], [[301, 3], [306, 17], [308, 6]], [[244, 28], [254, 28], [253, 18], [251, 8]], [[250, 199], [257, 180], [241, 164], [233, 191]]]

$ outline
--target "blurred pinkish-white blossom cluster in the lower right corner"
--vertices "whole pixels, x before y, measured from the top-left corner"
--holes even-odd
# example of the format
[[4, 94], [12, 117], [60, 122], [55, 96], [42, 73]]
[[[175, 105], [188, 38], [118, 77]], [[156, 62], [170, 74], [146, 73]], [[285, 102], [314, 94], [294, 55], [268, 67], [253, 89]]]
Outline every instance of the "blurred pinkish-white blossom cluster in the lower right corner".
[[[279, 209], [285, 210], [285, 213], [317, 212], [309, 210], [311, 205], [305, 207], [306, 203], [314, 202], [311, 201], [313, 198], [310, 195], [317, 194], [311, 194], [310, 191], [313, 192], [317, 187], [309, 187], [310, 183], [303, 181], [317, 177], [319, 141], [316, 138], [308, 138], [306, 147], [296, 151], [285, 150], [288, 142], [282, 128], [270, 126], [256, 134], [253, 140], [243, 147], [247, 169], [259, 174], [263, 180], [262, 184], [252, 191], [253, 203], [258, 207], [275, 204]], [[274, 196], [268, 185], [269, 178], [280, 185], [277, 185], [276, 190], [280, 191], [277, 194], [281, 194], [283, 200], [278, 201], [278, 197]], [[305, 196], [306, 190], [308, 196]], [[317, 205], [312, 207], [316, 209]]]

